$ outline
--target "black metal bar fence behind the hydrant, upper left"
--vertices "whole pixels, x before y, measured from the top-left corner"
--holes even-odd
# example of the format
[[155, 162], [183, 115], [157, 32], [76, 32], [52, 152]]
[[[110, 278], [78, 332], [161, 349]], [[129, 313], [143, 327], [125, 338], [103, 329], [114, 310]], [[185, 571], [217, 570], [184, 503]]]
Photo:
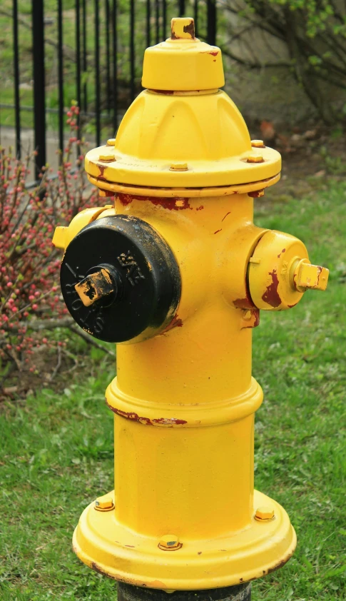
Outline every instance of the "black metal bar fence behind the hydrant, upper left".
[[[50, 15], [48, 20], [46, 9]], [[196, 35], [209, 44], [216, 44], [215, 0], [31, 0], [31, 14], [26, 24], [31, 29], [31, 47], [29, 54], [22, 58], [23, 24], [19, 1], [12, 0], [9, 18], [12, 19], [13, 103], [0, 103], [0, 108], [14, 111], [17, 156], [21, 156], [24, 111], [31, 111], [34, 116], [32, 127], [38, 169], [46, 164], [48, 113], [55, 116], [58, 148], [63, 148], [71, 94], [80, 108], [81, 131], [94, 134], [97, 146], [101, 143], [103, 128], [114, 133], [121, 114], [141, 91], [144, 49], [168, 37], [173, 16], [193, 16]], [[55, 22], [54, 39], [48, 41], [54, 50], [47, 58], [46, 30], [52, 22]], [[24, 61], [30, 59], [32, 103], [23, 105], [21, 69]], [[47, 69], [55, 72], [55, 106], [51, 103], [47, 106], [46, 102]]]

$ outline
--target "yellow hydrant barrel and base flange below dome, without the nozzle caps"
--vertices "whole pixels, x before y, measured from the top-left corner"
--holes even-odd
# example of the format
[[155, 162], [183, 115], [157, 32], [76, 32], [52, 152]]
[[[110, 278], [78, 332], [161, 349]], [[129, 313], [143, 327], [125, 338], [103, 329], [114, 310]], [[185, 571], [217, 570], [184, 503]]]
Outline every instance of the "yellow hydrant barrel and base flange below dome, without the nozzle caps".
[[[116, 508], [102, 520], [87, 508], [73, 545], [118, 580], [165, 590], [226, 586], [275, 569], [295, 547], [283, 508], [253, 490], [263, 394], [251, 377], [258, 320], [246, 272], [266, 231], [253, 226], [248, 194], [168, 206], [116, 195], [116, 213], [142, 218], [171, 246], [183, 292], [171, 329], [117, 347], [118, 376], [106, 391]], [[255, 519], [261, 505], [275, 507], [275, 520]], [[167, 532], [182, 546], [163, 557]]]

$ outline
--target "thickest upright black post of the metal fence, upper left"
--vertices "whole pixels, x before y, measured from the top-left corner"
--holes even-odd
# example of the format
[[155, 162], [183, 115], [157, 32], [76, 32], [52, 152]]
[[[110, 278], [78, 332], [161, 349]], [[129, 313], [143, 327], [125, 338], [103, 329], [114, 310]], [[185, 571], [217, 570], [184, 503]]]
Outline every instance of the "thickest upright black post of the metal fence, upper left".
[[46, 164], [46, 89], [44, 77], [44, 0], [31, 0], [33, 79], [34, 79], [34, 139], [37, 151], [35, 174], [39, 177]]

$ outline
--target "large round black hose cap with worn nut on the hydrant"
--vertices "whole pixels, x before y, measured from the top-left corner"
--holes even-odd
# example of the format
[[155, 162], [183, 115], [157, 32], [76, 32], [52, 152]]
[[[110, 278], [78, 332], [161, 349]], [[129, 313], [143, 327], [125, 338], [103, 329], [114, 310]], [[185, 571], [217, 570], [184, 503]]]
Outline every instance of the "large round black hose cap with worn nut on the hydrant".
[[166, 241], [146, 221], [116, 215], [89, 223], [68, 244], [60, 272], [76, 323], [106, 342], [139, 342], [163, 331], [180, 300], [180, 273]]

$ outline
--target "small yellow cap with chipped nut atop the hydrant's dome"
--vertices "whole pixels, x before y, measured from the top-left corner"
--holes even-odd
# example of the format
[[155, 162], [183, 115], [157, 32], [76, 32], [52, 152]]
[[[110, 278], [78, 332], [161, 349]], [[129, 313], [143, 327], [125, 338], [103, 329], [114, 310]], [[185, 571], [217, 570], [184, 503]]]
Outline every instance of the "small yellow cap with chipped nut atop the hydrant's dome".
[[225, 84], [221, 51], [195, 38], [191, 17], [172, 19], [171, 38], [144, 53], [144, 88], [162, 91], [200, 91]]

